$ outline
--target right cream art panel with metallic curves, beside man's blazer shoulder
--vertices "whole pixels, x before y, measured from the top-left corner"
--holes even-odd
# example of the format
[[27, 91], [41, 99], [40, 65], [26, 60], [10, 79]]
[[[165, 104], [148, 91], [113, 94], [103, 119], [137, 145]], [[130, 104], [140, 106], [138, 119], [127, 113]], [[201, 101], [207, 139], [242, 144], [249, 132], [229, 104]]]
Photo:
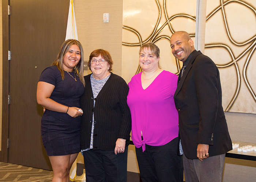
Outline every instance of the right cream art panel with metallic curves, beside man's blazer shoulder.
[[256, 113], [255, 48], [256, 1], [207, 0], [204, 53], [219, 68], [225, 111]]

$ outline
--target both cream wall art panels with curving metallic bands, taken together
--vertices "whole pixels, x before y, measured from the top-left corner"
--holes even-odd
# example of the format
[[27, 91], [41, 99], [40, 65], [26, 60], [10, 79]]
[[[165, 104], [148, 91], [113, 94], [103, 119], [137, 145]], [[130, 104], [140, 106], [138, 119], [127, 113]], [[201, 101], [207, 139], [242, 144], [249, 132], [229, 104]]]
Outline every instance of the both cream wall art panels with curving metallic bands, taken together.
[[[181, 63], [170, 49], [173, 32], [195, 37], [196, 0], [124, 0], [122, 76], [140, 72], [139, 48], [155, 43], [160, 65], [179, 74]], [[225, 111], [256, 113], [256, 2], [207, 0], [205, 54], [221, 74]], [[204, 36], [204, 35], [199, 35]]]

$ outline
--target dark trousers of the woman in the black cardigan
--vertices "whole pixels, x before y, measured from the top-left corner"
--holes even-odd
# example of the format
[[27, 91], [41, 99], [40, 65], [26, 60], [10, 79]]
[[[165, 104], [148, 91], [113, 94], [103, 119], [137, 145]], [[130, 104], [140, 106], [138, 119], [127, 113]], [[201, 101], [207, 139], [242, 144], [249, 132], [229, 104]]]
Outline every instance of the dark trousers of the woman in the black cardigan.
[[114, 150], [83, 151], [86, 182], [126, 182], [127, 151], [115, 154]]

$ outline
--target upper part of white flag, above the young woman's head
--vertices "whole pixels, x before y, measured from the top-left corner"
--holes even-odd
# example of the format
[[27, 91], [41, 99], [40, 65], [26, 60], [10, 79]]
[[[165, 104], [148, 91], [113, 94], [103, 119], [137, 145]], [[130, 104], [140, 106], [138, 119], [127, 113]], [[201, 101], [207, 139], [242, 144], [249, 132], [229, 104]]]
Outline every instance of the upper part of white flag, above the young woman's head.
[[74, 0], [70, 0], [70, 3], [69, 3], [68, 25], [67, 25], [67, 32], [66, 32], [65, 40], [68, 40], [68, 39], [78, 40], [77, 29], [76, 29]]

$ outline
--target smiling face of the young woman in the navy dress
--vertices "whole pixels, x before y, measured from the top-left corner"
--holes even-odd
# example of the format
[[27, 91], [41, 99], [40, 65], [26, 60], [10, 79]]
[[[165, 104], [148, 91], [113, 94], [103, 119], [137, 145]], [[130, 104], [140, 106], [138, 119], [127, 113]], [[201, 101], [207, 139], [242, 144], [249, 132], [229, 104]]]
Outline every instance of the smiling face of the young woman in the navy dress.
[[63, 70], [72, 71], [80, 59], [80, 48], [76, 44], [71, 45], [63, 58]]

